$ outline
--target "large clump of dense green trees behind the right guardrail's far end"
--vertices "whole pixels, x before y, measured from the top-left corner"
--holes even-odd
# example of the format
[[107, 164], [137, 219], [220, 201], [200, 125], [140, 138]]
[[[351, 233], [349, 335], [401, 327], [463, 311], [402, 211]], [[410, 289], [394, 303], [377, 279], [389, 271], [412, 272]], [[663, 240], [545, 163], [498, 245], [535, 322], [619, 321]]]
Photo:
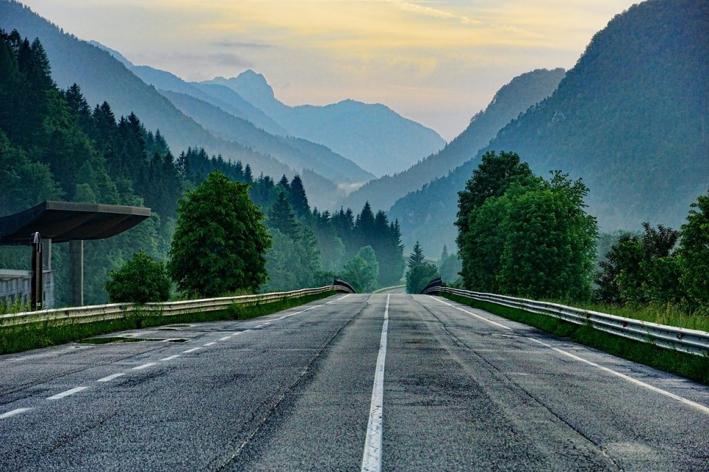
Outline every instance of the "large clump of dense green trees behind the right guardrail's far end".
[[464, 285], [530, 297], [588, 298], [596, 220], [586, 186], [560, 172], [534, 176], [517, 154], [488, 153], [459, 193]]

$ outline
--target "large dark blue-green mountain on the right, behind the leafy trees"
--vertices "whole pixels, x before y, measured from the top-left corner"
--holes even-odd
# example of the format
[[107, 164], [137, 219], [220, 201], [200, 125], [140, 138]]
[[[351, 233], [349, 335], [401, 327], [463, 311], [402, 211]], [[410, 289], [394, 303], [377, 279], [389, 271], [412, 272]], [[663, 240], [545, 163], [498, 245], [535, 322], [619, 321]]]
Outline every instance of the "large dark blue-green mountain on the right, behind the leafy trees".
[[[562, 169], [591, 188], [601, 230], [679, 227], [709, 187], [709, 2], [649, 0], [597, 33], [557, 91], [481, 150], [515, 151], [532, 170]], [[451, 245], [457, 191], [477, 166], [391, 208], [407, 245]]]

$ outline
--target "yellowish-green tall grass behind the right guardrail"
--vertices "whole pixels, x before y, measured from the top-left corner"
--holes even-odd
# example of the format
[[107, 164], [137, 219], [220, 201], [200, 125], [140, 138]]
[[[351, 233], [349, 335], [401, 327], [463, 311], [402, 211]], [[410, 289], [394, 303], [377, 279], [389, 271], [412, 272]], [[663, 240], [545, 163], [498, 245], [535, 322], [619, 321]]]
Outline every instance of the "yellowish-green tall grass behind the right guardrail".
[[608, 303], [589, 303], [578, 301], [544, 300], [561, 303], [584, 310], [618, 315], [633, 320], [654, 322], [659, 325], [669, 325], [709, 332], [709, 316], [687, 313], [678, 305], [651, 303], [649, 305], [610, 305]]

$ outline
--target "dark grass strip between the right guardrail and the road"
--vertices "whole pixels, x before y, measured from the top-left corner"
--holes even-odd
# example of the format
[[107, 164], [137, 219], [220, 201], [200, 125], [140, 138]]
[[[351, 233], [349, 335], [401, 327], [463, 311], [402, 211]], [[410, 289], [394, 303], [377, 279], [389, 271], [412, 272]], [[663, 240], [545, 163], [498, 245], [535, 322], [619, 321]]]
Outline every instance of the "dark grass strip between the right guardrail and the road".
[[528, 313], [524, 310], [508, 308], [495, 303], [473, 300], [450, 293], [441, 293], [440, 295], [464, 305], [500, 315], [509, 320], [537, 327], [552, 335], [566, 337], [579, 344], [585, 344], [614, 356], [652, 366], [662, 371], [676, 373], [679, 376], [709, 385], [709, 356], [697, 356], [672, 349], [664, 349], [654, 344], [610, 335], [588, 325], [574, 325], [574, 323], [559, 320], [552, 316]]

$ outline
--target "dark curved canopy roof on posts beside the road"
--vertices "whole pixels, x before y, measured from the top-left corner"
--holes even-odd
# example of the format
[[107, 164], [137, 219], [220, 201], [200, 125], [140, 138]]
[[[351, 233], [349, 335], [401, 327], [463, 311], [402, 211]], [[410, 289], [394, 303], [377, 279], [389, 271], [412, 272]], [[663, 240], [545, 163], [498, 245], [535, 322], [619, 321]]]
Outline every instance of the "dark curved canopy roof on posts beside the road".
[[45, 201], [0, 218], [1, 245], [27, 245], [35, 231], [52, 242], [101, 240], [120, 234], [150, 217], [150, 208]]

